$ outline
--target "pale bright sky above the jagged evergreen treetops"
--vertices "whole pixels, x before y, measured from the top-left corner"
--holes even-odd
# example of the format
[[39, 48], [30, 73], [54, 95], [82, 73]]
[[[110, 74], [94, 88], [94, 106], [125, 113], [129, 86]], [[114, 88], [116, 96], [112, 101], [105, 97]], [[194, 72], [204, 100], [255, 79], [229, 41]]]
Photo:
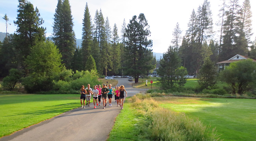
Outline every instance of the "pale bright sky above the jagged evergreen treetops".
[[[41, 18], [45, 21], [42, 25], [46, 27], [46, 37], [52, 35], [52, 24], [54, 22], [54, 13], [58, 0], [28, 0], [34, 7], [39, 9]], [[213, 27], [215, 34], [219, 35], [219, 27], [216, 26], [219, 22], [218, 13], [221, 8], [221, 0], [208, 0], [210, 1]], [[77, 39], [82, 38], [82, 20], [87, 2], [91, 19], [94, 18], [95, 12], [101, 9], [104, 18], [108, 16], [111, 30], [114, 24], [117, 24], [119, 30], [119, 37], [121, 37], [122, 24], [125, 19], [126, 24], [129, 23], [132, 16], [139, 16], [144, 13], [150, 26], [151, 36], [149, 39], [153, 40], [153, 52], [164, 53], [171, 45], [173, 38], [173, 30], [178, 22], [182, 30], [182, 36], [185, 35], [187, 30], [187, 23], [189, 22], [190, 15], [199, 5], [202, 5], [204, 0], [69, 0], [71, 12], [74, 22], [74, 32]], [[239, 0], [242, 5], [243, 0]], [[8, 26], [7, 32], [14, 33], [17, 26], [13, 24], [17, 20], [17, 6], [18, 0], [0, 0], [0, 17], [7, 14], [11, 25]], [[256, 36], [256, 0], [250, 0], [252, 11], [252, 40]], [[93, 23], [93, 20], [92, 20]], [[254, 28], [253, 28], [254, 27]], [[6, 22], [0, 19], [0, 32], [6, 32]], [[217, 36], [215, 36], [217, 38]]]

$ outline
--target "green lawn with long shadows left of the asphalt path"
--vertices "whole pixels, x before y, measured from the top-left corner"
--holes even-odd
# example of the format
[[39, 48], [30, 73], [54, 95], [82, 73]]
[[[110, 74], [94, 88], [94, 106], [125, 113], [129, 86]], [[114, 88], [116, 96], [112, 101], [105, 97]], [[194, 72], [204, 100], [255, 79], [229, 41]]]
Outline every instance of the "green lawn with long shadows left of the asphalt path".
[[0, 94], [0, 137], [80, 106], [75, 94]]

